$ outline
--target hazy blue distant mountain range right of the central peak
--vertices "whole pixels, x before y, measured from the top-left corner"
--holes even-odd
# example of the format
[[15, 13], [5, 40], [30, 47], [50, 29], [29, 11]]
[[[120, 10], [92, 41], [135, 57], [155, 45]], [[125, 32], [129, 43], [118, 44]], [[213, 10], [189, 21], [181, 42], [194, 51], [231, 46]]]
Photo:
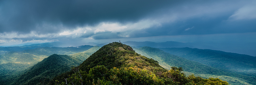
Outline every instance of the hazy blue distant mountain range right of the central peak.
[[127, 41], [124, 42], [124, 44], [140, 48], [144, 46], [153, 47], [153, 48], [199, 48], [199, 49], [211, 49], [211, 50], [221, 50], [226, 52], [233, 52], [233, 53], [239, 53], [239, 54], [247, 54], [251, 56], [256, 56], [256, 45], [255, 43], [212, 43], [212, 42], [200, 42], [200, 43], [192, 43], [192, 42], [174, 42], [174, 41], [168, 41], [168, 42], [162, 42], [162, 43], [156, 43], [156, 42], [133, 42], [133, 41]]

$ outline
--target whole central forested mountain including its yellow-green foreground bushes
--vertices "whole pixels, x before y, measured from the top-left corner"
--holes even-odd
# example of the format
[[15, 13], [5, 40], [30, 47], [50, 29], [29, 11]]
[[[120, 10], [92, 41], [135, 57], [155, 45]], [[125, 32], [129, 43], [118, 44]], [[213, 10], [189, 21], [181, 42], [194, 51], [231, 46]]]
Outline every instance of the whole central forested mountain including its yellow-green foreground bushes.
[[181, 67], [164, 69], [157, 61], [136, 53], [122, 43], [109, 43], [93, 53], [81, 65], [55, 77], [58, 85], [228, 85], [218, 78], [186, 76]]

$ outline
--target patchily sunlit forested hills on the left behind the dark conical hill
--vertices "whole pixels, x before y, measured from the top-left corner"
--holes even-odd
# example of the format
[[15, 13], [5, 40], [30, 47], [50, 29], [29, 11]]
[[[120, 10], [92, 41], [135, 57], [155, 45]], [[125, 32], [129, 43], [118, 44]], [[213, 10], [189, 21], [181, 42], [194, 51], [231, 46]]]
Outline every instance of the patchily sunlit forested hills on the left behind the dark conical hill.
[[[14, 76], [20, 74], [25, 69], [37, 64], [44, 58], [52, 54], [66, 54], [71, 55], [77, 52], [84, 52], [88, 57], [94, 53], [92, 51], [99, 48], [91, 49], [93, 46], [83, 45], [77, 47], [40, 47], [32, 50], [8, 52], [0, 55], [0, 82], [3, 83], [6, 79], [12, 79]], [[91, 51], [89, 50], [91, 49]], [[88, 50], [88, 52], [86, 51]], [[86, 57], [86, 58], [88, 58]], [[82, 57], [80, 57], [81, 59]], [[82, 59], [81, 61], [84, 61]]]

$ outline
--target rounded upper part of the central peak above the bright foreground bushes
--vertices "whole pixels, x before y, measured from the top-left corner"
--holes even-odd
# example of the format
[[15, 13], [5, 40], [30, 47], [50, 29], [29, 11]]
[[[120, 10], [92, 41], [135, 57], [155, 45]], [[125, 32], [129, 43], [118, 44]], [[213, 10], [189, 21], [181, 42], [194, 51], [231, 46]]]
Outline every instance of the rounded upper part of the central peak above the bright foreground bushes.
[[157, 61], [141, 56], [132, 47], [123, 43], [113, 42], [101, 47], [98, 51], [87, 58], [79, 68], [89, 71], [94, 66], [104, 65], [108, 69], [113, 67], [133, 67], [140, 68], [155, 66], [161, 67]]

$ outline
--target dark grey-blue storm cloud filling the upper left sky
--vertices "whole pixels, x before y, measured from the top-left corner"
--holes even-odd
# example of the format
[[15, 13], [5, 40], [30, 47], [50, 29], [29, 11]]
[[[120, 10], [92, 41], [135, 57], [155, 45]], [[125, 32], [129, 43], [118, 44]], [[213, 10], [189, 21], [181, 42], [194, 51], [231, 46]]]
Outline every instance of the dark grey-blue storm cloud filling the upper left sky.
[[0, 32], [38, 31], [94, 25], [102, 21], [133, 22], [173, 1], [138, 0], [3, 0]]

